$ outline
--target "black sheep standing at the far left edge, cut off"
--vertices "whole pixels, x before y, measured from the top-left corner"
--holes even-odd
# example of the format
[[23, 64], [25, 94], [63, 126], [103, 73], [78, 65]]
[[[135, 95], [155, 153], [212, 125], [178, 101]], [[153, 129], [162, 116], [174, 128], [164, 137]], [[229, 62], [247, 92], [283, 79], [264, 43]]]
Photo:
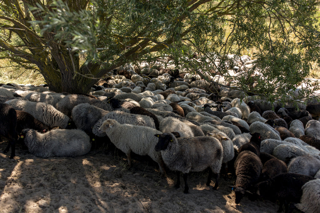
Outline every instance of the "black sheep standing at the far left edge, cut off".
[[11, 147], [10, 159], [15, 156], [15, 144], [18, 140], [17, 128], [17, 113], [12, 106], [0, 103], [0, 136], [9, 140], [8, 146], [4, 149], [7, 153]]

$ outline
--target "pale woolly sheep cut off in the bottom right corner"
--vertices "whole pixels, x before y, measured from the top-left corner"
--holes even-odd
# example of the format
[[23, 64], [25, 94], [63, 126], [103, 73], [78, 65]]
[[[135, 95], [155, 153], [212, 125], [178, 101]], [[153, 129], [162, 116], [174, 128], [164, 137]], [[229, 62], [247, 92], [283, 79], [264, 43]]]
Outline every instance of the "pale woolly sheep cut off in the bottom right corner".
[[302, 186], [300, 203], [295, 206], [305, 213], [314, 213], [320, 209], [320, 179], [310, 180]]

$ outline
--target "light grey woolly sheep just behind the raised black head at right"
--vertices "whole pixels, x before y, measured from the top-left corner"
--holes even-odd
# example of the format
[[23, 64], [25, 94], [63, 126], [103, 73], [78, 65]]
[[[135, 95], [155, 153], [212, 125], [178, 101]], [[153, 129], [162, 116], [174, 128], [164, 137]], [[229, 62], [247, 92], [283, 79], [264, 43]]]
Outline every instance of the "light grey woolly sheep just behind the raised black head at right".
[[276, 139], [281, 140], [280, 133], [276, 131], [274, 128], [269, 126], [268, 124], [262, 123], [260, 121], [253, 122], [250, 125], [251, 133], [260, 133], [261, 140], [265, 139]]

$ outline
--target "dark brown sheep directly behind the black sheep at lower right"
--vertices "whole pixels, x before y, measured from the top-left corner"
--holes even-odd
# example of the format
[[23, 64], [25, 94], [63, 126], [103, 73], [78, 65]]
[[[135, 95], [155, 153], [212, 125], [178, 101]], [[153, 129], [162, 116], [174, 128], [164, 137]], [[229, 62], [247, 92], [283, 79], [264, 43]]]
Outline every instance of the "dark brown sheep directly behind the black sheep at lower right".
[[263, 164], [260, 181], [268, 180], [284, 172], [287, 172], [287, 165], [282, 160], [274, 157]]

